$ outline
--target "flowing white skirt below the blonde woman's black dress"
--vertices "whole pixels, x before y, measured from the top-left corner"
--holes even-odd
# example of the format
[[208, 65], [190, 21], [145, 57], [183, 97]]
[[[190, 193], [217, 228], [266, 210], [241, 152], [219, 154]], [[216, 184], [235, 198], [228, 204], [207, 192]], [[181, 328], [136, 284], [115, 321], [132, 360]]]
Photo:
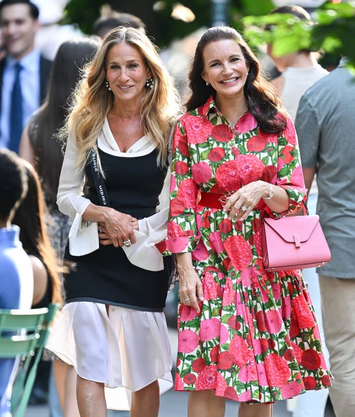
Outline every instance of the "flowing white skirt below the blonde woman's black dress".
[[171, 351], [163, 312], [138, 311], [78, 301], [65, 304], [47, 349], [78, 375], [105, 384], [108, 408], [129, 410], [131, 392], [158, 380], [160, 394], [172, 387]]

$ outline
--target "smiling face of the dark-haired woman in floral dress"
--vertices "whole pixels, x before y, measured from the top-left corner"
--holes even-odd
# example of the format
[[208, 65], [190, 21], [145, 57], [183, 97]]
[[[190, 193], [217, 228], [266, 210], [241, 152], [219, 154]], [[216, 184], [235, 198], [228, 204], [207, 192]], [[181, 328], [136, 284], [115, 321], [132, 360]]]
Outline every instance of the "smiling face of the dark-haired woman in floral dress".
[[236, 41], [224, 39], [206, 45], [203, 62], [201, 76], [216, 90], [218, 98], [243, 94], [248, 65]]

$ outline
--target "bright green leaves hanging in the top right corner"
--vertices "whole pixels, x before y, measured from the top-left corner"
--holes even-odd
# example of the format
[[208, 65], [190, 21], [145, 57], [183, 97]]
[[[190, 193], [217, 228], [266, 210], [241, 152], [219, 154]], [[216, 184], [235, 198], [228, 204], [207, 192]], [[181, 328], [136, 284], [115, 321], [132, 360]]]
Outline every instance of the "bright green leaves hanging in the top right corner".
[[[325, 3], [314, 13], [315, 24], [308, 24], [288, 14], [246, 16], [244, 36], [257, 47], [262, 43], [273, 46], [275, 56], [307, 49], [346, 55], [349, 66], [355, 68], [355, 3]], [[265, 27], [268, 30], [265, 30]]]

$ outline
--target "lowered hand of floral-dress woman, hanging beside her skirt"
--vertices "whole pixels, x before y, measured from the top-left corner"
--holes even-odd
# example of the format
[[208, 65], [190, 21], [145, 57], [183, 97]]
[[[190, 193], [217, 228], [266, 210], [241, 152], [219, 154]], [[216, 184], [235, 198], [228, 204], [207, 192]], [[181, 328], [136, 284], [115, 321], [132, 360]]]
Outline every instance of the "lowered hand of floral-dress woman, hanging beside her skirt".
[[176, 258], [179, 271], [180, 302], [190, 305], [200, 312], [197, 297], [199, 301], [203, 301], [203, 289], [201, 280], [192, 265], [191, 253], [176, 254]]

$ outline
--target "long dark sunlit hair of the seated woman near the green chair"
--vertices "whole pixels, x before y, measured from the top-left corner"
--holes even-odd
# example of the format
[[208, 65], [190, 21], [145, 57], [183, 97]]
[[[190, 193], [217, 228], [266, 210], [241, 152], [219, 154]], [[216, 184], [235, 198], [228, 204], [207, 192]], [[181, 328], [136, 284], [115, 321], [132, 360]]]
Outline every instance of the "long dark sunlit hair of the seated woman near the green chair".
[[42, 187], [37, 172], [33, 166], [23, 160], [28, 181], [28, 191], [22, 200], [12, 220], [20, 228], [20, 241], [23, 249], [29, 255], [37, 256], [44, 263], [51, 280], [53, 303], [62, 303], [59, 273], [66, 268], [60, 266], [55, 251], [48, 237], [45, 216], [47, 206], [43, 197]]

